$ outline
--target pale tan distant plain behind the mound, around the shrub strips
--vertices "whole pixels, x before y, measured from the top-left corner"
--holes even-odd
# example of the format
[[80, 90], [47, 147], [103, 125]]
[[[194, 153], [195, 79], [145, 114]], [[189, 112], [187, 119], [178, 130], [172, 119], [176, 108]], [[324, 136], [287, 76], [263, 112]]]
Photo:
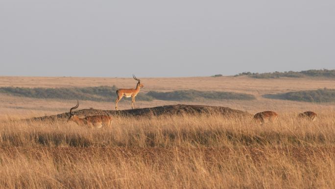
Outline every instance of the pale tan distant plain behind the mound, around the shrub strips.
[[[334, 79], [325, 78], [280, 78], [280, 79], [253, 79], [249, 77], [192, 77], [192, 78], [141, 78], [144, 84], [142, 92], [172, 91], [172, 90], [215, 90], [227, 92], [247, 93], [256, 96], [256, 100], [221, 100], [221, 101], [199, 101], [186, 102], [183, 104], [223, 106], [234, 109], [247, 110], [256, 113], [263, 110], [275, 110], [285, 112], [287, 109], [300, 112], [313, 109], [335, 110], [335, 103], [305, 103], [286, 100], [274, 100], [263, 98], [264, 94], [276, 94], [298, 90], [312, 90], [319, 88], [335, 88]], [[87, 87], [116, 85], [120, 88], [134, 88], [136, 81], [132, 78], [71, 78], [71, 77], [0, 77], [1, 86], [14, 87]], [[24, 97], [13, 97], [0, 93], [0, 120], [8, 117], [28, 118], [33, 116], [44, 116], [45, 114], [57, 114], [68, 111], [75, 105], [72, 100], [58, 99], [32, 99]], [[163, 105], [180, 104], [175, 101], [154, 100], [151, 102], [139, 101], [140, 108], [155, 107]], [[131, 107], [130, 101], [121, 100], [120, 109]], [[114, 109], [113, 102], [81, 101], [79, 109], [97, 108]]]

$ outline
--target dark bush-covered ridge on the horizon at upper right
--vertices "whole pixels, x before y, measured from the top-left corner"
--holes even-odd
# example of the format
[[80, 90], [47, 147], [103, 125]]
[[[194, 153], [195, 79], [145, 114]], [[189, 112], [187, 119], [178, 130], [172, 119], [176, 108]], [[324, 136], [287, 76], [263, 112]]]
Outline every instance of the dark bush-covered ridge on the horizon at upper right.
[[258, 78], [258, 79], [268, 79], [268, 78], [280, 78], [280, 77], [287, 77], [287, 78], [303, 78], [303, 77], [325, 77], [325, 78], [335, 78], [335, 70], [306, 70], [301, 72], [269, 72], [269, 73], [251, 73], [251, 72], [243, 72], [235, 75], [238, 76], [249, 76], [251, 78]]

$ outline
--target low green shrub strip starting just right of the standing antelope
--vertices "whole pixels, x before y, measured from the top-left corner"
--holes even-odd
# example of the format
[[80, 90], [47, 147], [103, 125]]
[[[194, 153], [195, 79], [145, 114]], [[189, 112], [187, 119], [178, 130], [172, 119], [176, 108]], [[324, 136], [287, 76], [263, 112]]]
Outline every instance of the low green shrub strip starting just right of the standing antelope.
[[178, 90], [171, 92], [149, 91], [148, 96], [159, 100], [168, 101], [193, 101], [196, 99], [212, 100], [254, 100], [255, 96], [243, 93], [220, 92], [220, 91], [198, 91], [198, 90]]

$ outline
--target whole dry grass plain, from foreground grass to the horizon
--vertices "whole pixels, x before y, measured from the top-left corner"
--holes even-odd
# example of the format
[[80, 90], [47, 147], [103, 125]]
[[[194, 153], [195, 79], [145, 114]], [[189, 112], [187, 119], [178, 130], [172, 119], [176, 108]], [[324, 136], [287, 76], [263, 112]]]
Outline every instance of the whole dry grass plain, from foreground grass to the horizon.
[[[255, 114], [273, 110], [277, 122], [252, 116], [178, 114], [114, 116], [90, 129], [64, 120], [27, 118], [68, 112], [73, 100], [0, 93], [0, 188], [6, 189], [330, 189], [335, 188], [335, 103], [263, 98], [335, 88], [333, 79], [247, 77], [141, 78], [144, 88], [252, 94], [254, 100], [137, 101], [140, 108], [173, 104], [223, 106]], [[130, 78], [0, 77], [0, 86], [116, 85]], [[78, 109], [114, 109], [113, 102], [80, 101]], [[120, 109], [131, 108], [121, 100]], [[315, 121], [298, 119], [312, 110]]]

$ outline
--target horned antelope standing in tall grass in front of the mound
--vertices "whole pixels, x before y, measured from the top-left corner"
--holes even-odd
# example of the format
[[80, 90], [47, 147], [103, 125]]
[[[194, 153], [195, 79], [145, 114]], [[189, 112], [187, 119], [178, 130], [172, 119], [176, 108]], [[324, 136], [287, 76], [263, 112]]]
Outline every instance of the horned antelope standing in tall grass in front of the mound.
[[78, 125], [87, 125], [93, 128], [101, 128], [102, 126], [111, 126], [112, 125], [112, 117], [108, 115], [93, 115], [87, 116], [84, 118], [79, 118], [77, 115], [72, 113], [72, 110], [79, 107], [79, 101], [77, 101], [77, 105], [70, 109], [70, 117], [68, 121], [73, 121]]

